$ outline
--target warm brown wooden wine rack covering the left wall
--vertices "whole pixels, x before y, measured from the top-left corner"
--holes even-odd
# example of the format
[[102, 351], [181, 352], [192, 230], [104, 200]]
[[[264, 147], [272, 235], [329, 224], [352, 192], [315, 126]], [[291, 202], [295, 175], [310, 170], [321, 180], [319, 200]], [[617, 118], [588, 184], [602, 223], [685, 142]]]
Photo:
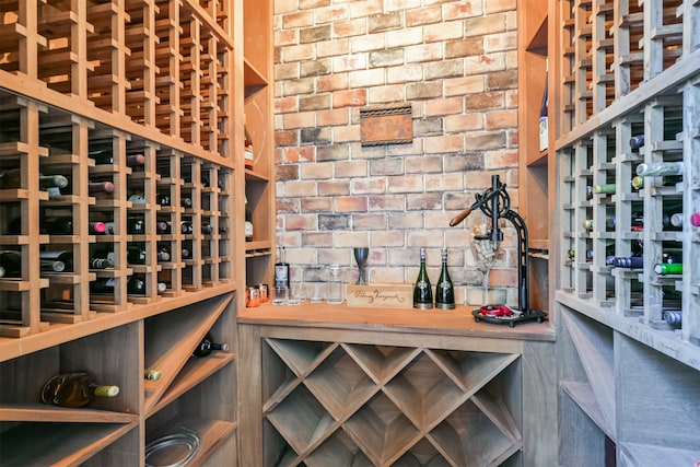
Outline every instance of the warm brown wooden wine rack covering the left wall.
[[[197, 465], [237, 463], [236, 313], [246, 275], [269, 282], [273, 262], [271, 14], [259, 1], [0, 0], [0, 171], [22, 173], [0, 190], [0, 249], [22, 254], [20, 277], [0, 279], [0, 464], [144, 465], [145, 444], [180, 427], [201, 437]], [[70, 187], [49, 197], [39, 173]], [[248, 247], [246, 192], [259, 223]], [[72, 227], [44, 231], [58, 215]], [[45, 250], [70, 252], [72, 271], [43, 271]], [[91, 268], [98, 250], [113, 267]], [[103, 280], [113, 292], [91, 288]], [[232, 351], [190, 358], [208, 332]], [[144, 381], [147, 369], [163, 376]], [[49, 376], [78, 370], [119, 396], [39, 404]]]

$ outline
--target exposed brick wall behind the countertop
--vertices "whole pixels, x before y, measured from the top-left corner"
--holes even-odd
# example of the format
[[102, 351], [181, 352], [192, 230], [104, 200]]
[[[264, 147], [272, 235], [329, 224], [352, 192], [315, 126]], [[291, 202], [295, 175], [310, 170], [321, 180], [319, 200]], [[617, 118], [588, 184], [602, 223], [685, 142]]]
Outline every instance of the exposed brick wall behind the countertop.
[[[450, 220], [491, 175], [517, 205], [515, 0], [276, 0], [278, 244], [296, 280], [370, 247], [372, 282], [438, 280], [450, 252], [457, 301], [481, 302], [470, 230]], [[362, 147], [360, 109], [410, 103], [413, 140]], [[490, 272], [491, 301], [517, 304], [515, 231]]]

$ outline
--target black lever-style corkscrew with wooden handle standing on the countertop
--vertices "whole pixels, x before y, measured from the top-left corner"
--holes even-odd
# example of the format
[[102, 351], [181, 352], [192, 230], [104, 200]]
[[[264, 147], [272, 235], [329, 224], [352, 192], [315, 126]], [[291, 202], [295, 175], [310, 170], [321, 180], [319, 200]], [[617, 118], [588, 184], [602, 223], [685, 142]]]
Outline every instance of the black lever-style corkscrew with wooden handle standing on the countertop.
[[450, 221], [450, 226], [455, 226], [464, 221], [471, 211], [480, 209], [491, 220], [491, 230], [487, 234], [492, 242], [502, 242], [503, 232], [499, 229], [499, 219], [503, 218], [515, 226], [517, 232], [517, 303], [518, 310], [505, 305], [483, 305], [472, 312], [477, 322], [483, 319], [488, 323], [508, 323], [511, 327], [522, 320], [536, 319], [541, 323], [547, 313], [529, 308], [529, 260], [527, 257], [527, 226], [525, 220], [511, 209], [511, 197], [505, 190], [498, 175], [491, 176], [491, 187], [476, 196], [476, 201], [468, 209], [455, 215]]

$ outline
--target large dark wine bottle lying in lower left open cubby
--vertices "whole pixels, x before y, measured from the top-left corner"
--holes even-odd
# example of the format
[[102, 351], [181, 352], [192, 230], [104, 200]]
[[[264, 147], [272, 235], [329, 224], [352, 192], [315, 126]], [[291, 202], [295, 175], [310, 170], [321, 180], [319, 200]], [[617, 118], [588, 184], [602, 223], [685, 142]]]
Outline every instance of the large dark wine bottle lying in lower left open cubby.
[[59, 407], [83, 407], [95, 396], [115, 397], [118, 386], [101, 386], [92, 373], [66, 373], [51, 377], [42, 389], [42, 401]]

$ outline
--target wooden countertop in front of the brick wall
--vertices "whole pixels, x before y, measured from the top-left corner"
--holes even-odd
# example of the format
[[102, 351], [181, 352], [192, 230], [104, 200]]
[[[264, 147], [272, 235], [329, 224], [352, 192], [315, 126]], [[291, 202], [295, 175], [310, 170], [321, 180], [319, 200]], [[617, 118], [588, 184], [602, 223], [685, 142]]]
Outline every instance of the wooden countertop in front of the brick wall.
[[497, 339], [556, 340], [549, 322], [508, 324], [476, 323], [471, 311], [476, 306], [456, 310], [402, 310], [349, 307], [347, 304], [302, 303], [272, 305], [270, 302], [238, 313], [240, 324], [259, 326], [317, 327], [383, 332], [420, 332], [445, 336], [488, 337]]

